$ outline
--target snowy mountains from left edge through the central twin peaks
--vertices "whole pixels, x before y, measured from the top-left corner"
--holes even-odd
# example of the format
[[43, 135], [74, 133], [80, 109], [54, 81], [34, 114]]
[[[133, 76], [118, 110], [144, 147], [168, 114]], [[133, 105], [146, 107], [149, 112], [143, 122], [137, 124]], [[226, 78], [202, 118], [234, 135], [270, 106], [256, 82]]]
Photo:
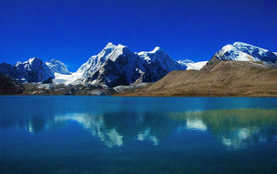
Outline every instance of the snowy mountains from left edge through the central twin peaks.
[[[153, 51], [134, 53], [127, 46], [108, 43], [98, 55], [93, 55], [75, 73], [58, 61], [46, 63], [39, 58], [26, 62], [0, 64], [0, 72], [23, 82], [42, 82], [53, 78], [56, 83], [90, 84], [115, 87], [135, 82], [155, 82], [174, 70], [186, 70], [186, 64], [172, 59], [166, 51], [156, 47]], [[66, 76], [67, 75], [67, 76]]]

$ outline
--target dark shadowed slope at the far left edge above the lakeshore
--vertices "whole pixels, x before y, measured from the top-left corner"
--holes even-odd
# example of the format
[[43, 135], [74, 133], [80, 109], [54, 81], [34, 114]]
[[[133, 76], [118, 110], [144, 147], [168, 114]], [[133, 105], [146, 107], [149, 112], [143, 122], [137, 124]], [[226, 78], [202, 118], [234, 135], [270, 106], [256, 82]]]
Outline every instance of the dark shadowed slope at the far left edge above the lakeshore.
[[6, 74], [0, 73], [0, 95], [21, 94], [24, 92], [24, 85], [13, 80]]

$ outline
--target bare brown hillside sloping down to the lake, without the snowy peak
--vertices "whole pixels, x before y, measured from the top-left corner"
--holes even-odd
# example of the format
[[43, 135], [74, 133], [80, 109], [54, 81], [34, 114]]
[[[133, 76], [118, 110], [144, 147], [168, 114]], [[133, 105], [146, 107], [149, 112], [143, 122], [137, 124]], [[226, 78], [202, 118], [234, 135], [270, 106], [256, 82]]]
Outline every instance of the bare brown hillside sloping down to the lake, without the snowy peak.
[[123, 96], [277, 96], [277, 69], [257, 62], [212, 59], [200, 71], [172, 71]]

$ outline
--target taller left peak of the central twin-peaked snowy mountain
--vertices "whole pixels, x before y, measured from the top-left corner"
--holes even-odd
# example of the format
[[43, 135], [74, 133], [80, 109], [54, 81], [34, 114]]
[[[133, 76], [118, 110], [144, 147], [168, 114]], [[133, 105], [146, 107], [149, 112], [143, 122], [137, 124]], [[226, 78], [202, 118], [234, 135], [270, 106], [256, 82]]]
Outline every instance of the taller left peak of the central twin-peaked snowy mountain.
[[141, 76], [139, 71], [134, 69], [138, 63], [139, 56], [129, 51], [127, 46], [108, 43], [98, 55], [89, 58], [78, 69], [77, 73], [82, 73], [82, 78], [77, 82], [109, 87], [129, 85], [133, 82], [132, 78]]

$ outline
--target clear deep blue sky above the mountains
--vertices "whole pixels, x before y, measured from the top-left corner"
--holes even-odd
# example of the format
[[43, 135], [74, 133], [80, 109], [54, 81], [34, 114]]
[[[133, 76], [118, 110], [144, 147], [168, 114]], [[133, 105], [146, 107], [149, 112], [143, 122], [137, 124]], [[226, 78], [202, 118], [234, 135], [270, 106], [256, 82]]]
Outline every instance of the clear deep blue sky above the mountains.
[[226, 44], [277, 52], [277, 1], [0, 1], [0, 62], [56, 58], [75, 71], [107, 44], [208, 60]]

